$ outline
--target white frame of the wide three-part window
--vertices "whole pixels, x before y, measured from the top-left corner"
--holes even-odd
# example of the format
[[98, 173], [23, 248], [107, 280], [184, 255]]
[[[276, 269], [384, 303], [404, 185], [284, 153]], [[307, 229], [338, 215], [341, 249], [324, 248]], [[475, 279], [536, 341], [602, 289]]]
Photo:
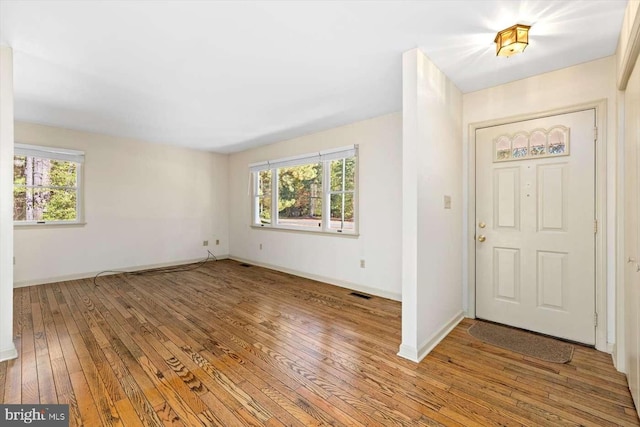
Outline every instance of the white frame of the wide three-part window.
[[[343, 191], [331, 190], [331, 162], [339, 159], [355, 159], [354, 172], [354, 189], [344, 193], [353, 194], [353, 229], [337, 229], [331, 228], [331, 195], [343, 194]], [[279, 223], [279, 169], [283, 167], [304, 166], [310, 164], [322, 164], [322, 217], [320, 218], [320, 227], [306, 227], [283, 225]], [[260, 171], [271, 171], [271, 223], [264, 224], [260, 222], [258, 212], [259, 194], [259, 173]], [[339, 236], [358, 236], [359, 235], [359, 152], [357, 145], [324, 150], [320, 152], [304, 154], [299, 156], [287, 157], [282, 159], [270, 160], [265, 162], [252, 163], [249, 165], [250, 172], [250, 190], [251, 190], [251, 224], [253, 228], [265, 230], [285, 230], [297, 231], [302, 233], [331, 234]], [[343, 181], [346, 177], [343, 175]]]

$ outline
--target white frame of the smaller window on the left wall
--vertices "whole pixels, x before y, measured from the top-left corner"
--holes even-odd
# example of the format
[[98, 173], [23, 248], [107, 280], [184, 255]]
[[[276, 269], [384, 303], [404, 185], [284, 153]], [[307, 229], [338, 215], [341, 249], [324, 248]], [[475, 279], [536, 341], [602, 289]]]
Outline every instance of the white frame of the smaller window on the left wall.
[[[76, 164], [76, 219], [74, 220], [13, 220], [13, 225], [17, 227], [32, 227], [32, 226], [64, 226], [64, 225], [84, 225], [84, 151], [71, 150], [67, 148], [59, 147], [45, 147], [40, 145], [31, 144], [14, 144], [13, 158], [17, 156], [29, 156], [37, 157], [48, 160], [59, 160], [73, 162]], [[16, 188], [15, 176], [14, 176], [13, 188]], [[27, 186], [23, 186], [27, 188]], [[60, 188], [60, 189], [72, 189], [73, 187], [59, 187], [59, 186], [30, 186], [29, 188]], [[12, 200], [13, 202], [13, 200]]]

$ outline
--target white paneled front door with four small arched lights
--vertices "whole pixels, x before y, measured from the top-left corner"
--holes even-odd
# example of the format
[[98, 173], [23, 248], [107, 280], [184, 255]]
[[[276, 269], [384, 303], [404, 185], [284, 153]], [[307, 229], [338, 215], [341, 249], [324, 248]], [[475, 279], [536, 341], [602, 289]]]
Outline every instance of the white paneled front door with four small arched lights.
[[476, 131], [476, 315], [595, 344], [595, 110]]

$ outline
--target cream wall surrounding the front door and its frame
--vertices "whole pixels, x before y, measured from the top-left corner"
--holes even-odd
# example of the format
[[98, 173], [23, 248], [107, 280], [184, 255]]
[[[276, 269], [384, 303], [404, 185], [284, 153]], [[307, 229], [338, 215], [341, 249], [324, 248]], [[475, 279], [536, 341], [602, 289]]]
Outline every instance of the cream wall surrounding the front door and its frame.
[[[564, 68], [546, 74], [518, 80], [493, 88], [472, 92], [463, 96], [463, 141], [464, 141], [464, 193], [468, 196], [469, 124], [518, 115], [544, 112], [607, 100], [607, 341], [615, 341], [615, 248], [616, 248], [616, 60], [615, 57], [599, 59]], [[600, 130], [602, 132], [602, 130]], [[467, 217], [468, 206], [464, 207]], [[467, 263], [469, 233], [465, 226], [464, 254]], [[465, 272], [464, 283], [468, 282]], [[467, 309], [468, 289], [465, 287], [463, 301]]]

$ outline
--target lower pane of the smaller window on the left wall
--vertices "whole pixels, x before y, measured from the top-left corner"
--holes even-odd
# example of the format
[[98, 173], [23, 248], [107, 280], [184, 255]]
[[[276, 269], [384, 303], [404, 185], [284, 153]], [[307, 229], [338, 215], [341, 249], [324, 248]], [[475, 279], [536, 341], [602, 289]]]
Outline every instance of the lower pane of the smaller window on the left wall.
[[74, 221], [78, 219], [77, 191], [59, 188], [13, 189], [14, 221]]

